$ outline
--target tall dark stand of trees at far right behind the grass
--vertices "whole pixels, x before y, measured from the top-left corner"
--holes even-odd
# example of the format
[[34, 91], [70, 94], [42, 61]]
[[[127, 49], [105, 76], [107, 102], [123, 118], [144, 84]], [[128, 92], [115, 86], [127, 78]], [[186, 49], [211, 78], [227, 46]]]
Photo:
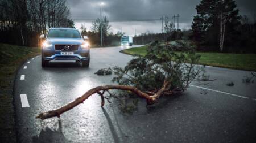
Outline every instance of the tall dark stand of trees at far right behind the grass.
[[202, 50], [256, 52], [256, 23], [241, 16], [233, 0], [202, 0], [196, 6], [192, 40]]

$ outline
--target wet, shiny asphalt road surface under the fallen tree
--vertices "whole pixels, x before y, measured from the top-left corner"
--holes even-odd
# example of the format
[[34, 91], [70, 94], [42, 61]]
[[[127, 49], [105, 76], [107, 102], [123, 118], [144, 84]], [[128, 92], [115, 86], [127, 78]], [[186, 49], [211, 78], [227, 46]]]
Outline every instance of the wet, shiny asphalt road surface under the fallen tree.
[[[102, 109], [95, 95], [60, 119], [35, 119], [40, 112], [63, 106], [90, 88], [113, 84], [113, 75], [94, 72], [125, 66], [132, 57], [119, 53], [124, 48], [91, 49], [89, 68], [71, 62], [42, 68], [40, 56], [24, 63], [14, 88], [18, 142], [256, 141], [256, 84], [242, 82], [250, 72], [216, 67], [206, 67], [210, 79], [216, 79], [210, 84], [195, 81], [184, 94], [163, 97], [149, 107], [140, 100], [133, 114], [123, 114], [115, 103], [106, 103]], [[20, 80], [22, 75], [24, 80]], [[234, 86], [225, 85], [230, 81]], [[26, 94], [29, 107], [22, 107], [20, 94]]]

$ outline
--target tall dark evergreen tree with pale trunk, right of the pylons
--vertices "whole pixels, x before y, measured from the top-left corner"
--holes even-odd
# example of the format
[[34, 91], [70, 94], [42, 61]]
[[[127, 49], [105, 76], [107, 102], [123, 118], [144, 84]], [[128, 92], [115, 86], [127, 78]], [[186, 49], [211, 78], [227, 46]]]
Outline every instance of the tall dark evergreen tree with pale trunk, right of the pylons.
[[236, 7], [234, 0], [202, 0], [196, 6], [197, 15], [192, 23], [193, 40], [199, 44], [218, 45], [222, 51], [224, 41], [234, 38], [232, 35], [240, 25], [239, 10]]

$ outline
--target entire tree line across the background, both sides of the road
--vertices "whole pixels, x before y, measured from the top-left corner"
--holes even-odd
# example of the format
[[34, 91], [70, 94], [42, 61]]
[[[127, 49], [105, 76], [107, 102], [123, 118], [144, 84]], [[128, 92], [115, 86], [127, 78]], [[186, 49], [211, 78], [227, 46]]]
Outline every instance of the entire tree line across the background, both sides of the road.
[[[134, 44], [148, 44], [155, 40], [191, 40], [200, 51], [229, 53], [256, 53], [256, 21], [241, 16], [234, 0], [201, 0], [196, 6], [188, 30], [176, 29], [166, 20], [163, 33], [146, 32], [134, 36]], [[0, 42], [15, 45], [38, 46], [39, 35], [51, 27], [74, 27], [65, 0], [0, 0]], [[113, 34], [104, 16], [92, 22], [91, 30], [84, 25], [82, 35], [91, 45], [120, 45], [122, 32]]]

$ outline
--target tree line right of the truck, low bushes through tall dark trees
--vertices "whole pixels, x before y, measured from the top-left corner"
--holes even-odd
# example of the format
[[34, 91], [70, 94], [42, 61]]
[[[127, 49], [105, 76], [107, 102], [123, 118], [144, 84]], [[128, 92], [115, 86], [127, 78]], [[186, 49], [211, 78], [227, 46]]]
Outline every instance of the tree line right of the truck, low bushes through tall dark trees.
[[256, 53], [256, 21], [241, 16], [233, 0], [201, 0], [196, 6], [189, 30], [175, 29], [165, 21], [163, 33], [143, 33], [134, 37], [135, 44], [154, 40], [191, 40], [200, 51]]

